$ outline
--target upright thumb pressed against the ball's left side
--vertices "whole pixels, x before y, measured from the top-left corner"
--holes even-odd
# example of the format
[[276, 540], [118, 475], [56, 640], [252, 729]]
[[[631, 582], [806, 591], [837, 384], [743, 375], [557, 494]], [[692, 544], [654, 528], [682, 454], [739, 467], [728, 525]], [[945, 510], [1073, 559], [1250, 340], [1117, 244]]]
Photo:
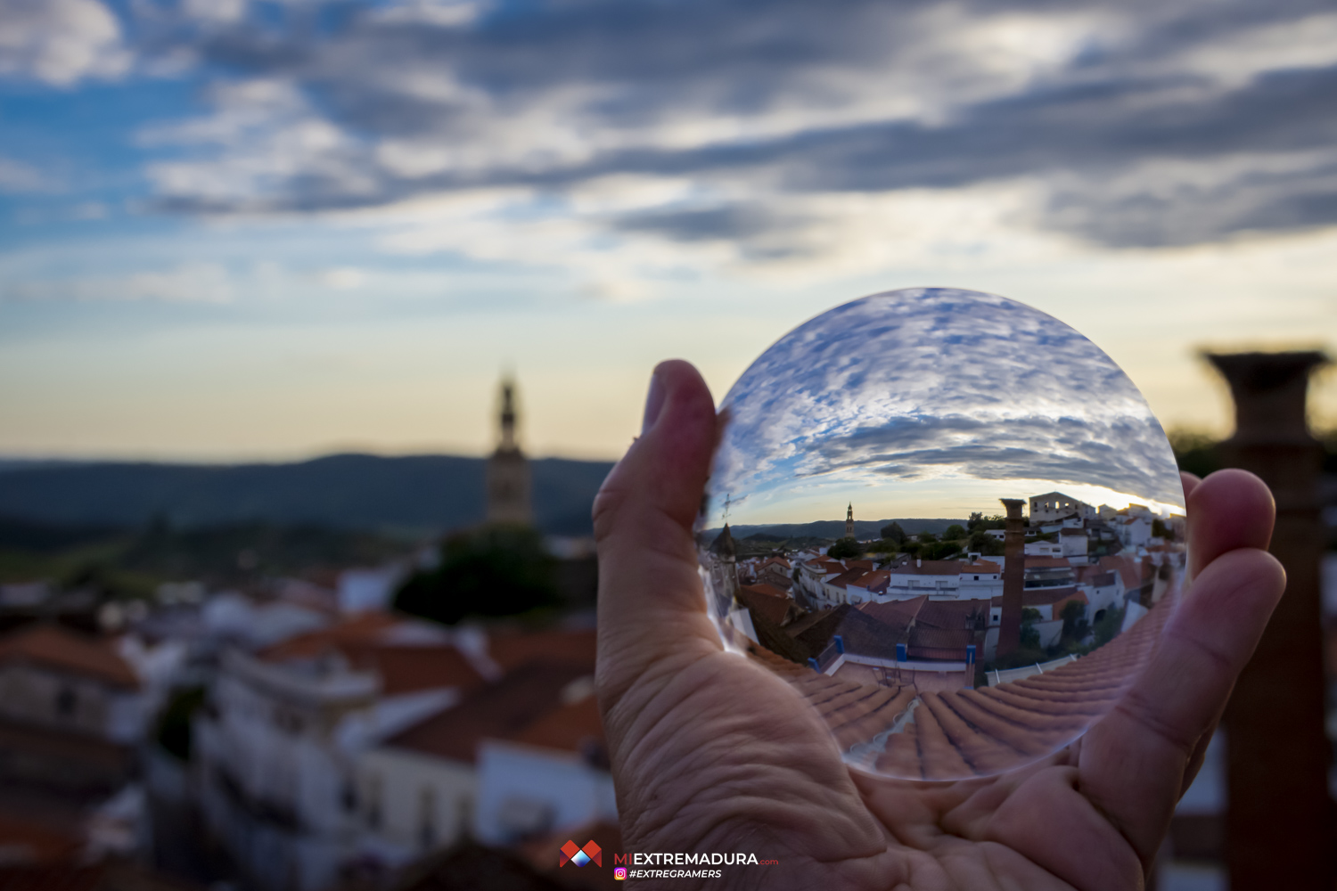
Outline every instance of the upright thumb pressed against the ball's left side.
[[715, 430], [714, 399], [697, 369], [662, 362], [644, 429], [594, 501], [600, 684], [610, 692], [683, 647], [719, 648], [693, 537]]

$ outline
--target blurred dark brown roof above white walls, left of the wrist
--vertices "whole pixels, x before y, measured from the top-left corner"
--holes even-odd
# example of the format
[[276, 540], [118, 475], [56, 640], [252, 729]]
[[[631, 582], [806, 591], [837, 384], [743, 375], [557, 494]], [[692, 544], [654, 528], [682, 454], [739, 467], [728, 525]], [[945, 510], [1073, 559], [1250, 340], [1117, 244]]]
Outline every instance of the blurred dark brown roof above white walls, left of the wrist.
[[563, 705], [562, 692], [590, 668], [572, 663], [528, 663], [385, 741], [436, 757], [472, 764], [483, 739], [515, 739]]

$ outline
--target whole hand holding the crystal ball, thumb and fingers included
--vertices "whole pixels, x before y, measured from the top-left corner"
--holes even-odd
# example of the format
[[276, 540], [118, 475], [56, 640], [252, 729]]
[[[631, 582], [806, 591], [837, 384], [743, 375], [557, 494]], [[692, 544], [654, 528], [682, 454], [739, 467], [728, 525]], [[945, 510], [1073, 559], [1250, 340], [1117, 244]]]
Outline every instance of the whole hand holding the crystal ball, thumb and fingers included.
[[[599, 701], [627, 851], [754, 852], [710, 887], [1140, 888], [1235, 677], [1285, 588], [1257, 477], [1185, 478], [1193, 589], [1120, 704], [1000, 776], [850, 772], [779, 677], [723, 652], [693, 522], [718, 421], [686, 362], [655, 369], [643, 433], [595, 500]], [[674, 888], [690, 883], [674, 880]]]

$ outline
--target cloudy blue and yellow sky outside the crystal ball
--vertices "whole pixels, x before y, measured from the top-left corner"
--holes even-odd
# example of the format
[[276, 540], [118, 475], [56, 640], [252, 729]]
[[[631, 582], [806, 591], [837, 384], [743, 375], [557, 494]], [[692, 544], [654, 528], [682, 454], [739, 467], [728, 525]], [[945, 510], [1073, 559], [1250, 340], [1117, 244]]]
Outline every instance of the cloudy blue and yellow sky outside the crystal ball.
[[[829, 307], [1003, 294], [1169, 429], [1337, 347], [1322, 0], [0, 0], [0, 456], [612, 458]], [[1337, 373], [1314, 421], [1337, 426]]]

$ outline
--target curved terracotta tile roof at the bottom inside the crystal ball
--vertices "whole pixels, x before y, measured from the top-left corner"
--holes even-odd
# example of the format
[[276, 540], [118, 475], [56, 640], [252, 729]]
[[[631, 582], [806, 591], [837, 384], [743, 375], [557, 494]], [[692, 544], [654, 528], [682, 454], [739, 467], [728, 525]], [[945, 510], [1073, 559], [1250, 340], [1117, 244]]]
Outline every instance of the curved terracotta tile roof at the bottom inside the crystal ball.
[[[981, 689], [920, 693], [894, 684], [858, 684], [820, 675], [755, 648], [822, 716], [841, 751], [885, 733], [869, 767], [896, 776], [948, 780], [1034, 761], [1080, 736], [1123, 695], [1146, 663], [1173, 600], [1128, 632], [1055, 671]], [[897, 719], [916, 703], [909, 720]], [[893, 728], [898, 732], [890, 732]]]

